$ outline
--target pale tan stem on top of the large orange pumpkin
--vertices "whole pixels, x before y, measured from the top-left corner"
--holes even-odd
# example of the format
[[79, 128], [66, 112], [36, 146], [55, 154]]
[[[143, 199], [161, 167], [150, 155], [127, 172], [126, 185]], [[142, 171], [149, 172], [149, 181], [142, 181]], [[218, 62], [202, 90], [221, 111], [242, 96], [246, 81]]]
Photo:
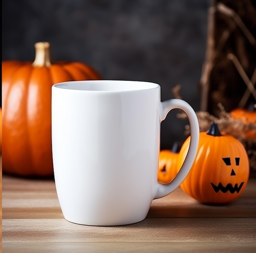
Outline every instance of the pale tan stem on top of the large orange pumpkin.
[[35, 44], [36, 57], [33, 62], [34, 67], [49, 67], [52, 65], [51, 55], [50, 55], [50, 44], [49, 42], [37, 42]]

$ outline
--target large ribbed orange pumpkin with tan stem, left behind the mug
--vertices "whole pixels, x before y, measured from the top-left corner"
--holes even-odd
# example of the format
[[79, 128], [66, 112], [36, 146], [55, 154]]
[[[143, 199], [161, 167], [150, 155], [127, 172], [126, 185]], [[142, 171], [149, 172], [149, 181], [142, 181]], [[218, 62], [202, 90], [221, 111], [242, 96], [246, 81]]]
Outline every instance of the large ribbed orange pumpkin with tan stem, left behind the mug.
[[[35, 44], [32, 62], [2, 62], [2, 170], [51, 176], [51, 87], [62, 81], [101, 79], [81, 62], [52, 62], [48, 42]], [[65, 136], [63, 136], [65, 138]]]

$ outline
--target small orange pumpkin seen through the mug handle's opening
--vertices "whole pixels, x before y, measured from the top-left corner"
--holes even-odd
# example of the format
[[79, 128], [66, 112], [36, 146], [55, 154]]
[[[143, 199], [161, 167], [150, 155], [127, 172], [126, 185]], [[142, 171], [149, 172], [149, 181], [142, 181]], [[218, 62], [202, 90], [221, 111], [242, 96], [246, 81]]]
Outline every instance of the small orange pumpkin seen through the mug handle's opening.
[[177, 174], [178, 143], [173, 144], [172, 150], [161, 150], [159, 153], [158, 182], [167, 184]]

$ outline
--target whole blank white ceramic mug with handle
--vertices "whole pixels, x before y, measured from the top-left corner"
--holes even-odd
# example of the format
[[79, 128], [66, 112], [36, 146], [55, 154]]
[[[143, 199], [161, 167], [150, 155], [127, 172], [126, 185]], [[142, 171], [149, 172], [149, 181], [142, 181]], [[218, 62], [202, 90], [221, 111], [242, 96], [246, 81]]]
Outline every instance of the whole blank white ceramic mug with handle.
[[[191, 143], [177, 176], [157, 182], [160, 123], [184, 110]], [[52, 153], [58, 200], [66, 220], [114, 226], [146, 218], [151, 202], [189, 173], [199, 141], [194, 110], [160, 100], [160, 86], [142, 81], [67, 81], [52, 86]]]

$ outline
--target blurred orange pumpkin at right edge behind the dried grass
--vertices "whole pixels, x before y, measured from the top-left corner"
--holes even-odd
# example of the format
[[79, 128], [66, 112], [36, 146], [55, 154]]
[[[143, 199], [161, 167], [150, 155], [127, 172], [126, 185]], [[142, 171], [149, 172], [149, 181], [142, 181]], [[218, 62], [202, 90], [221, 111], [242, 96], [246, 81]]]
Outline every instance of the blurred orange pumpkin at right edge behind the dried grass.
[[256, 139], [256, 110], [253, 104], [248, 109], [236, 108], [231, 110], [230, 116], [248, 125], [248, 128], [245, 128], [246, 132], [244, 132], [245, 139]]

